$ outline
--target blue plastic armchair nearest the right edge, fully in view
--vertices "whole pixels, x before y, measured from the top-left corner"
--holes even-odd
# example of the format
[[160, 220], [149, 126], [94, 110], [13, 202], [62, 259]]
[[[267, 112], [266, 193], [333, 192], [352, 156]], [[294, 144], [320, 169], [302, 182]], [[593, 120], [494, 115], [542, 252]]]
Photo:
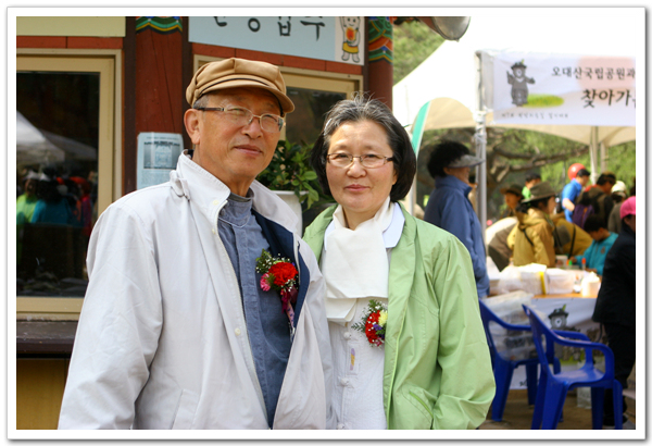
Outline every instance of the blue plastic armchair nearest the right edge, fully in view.
[[[604, 344], [591, 343], [585, 334], [576, 332], [564, 332], [561, 337], [549, 329], [543, 321], [527, 306], [523, 306], [532, 330], [532, 337], [541, 375], [537, 391], [537, 401], [532, 416], [534, 430], [556, 429], [566, 400], [568, 391], [576, 387], [591, 387], [592, 424], [594, 430], [602, 429], [604, 389], [612, 388], [614, 395], [614, 419], [615, 429], [623, 429], [623, 386], [614, 379], [614, 354]], [[569, 337], [581, 340], [570, 340]], [[543, 347], [546, 342], [546, 349]], [[554, 357], [554, 345], [584, 348], [585, 364], [579, 370], [568, 372], [551, 372], [548, 363]], [[604, 355], [604, 372], [593, 366], [593, 350], [600, 350]]]

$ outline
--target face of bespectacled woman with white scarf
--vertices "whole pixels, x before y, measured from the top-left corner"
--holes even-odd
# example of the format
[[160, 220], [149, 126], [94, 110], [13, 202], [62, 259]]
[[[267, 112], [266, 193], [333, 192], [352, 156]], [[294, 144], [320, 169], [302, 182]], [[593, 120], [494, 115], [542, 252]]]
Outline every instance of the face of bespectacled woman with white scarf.
[[[373, 121], [342, 124], [330, 138], [328, 153], [393, 156], [385, 128]], [[347, 168], [336, 168], [327, 162], [326, 177], [330, 194], [341, 205], [352, 230], [376, 214], [398, 178], [393, 162], [368, 169], [359, 158]]]

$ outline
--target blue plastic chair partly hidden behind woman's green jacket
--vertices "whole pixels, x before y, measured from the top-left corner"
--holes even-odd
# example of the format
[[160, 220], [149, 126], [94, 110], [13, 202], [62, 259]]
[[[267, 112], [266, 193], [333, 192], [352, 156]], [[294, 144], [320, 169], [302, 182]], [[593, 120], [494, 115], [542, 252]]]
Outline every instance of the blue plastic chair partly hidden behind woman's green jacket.
[[[530, 326], [510, 324], [491, 311], [491, 309], [489, 309], [489, 307], [482, 302], [482, 300], [479, 300], [479, 302], [480, 317], [482, 318], [482, 325], [485, 326], [485, 333], [487, 335], [487, 344], [489, 344], [489, 350], [491, 351], [491, 361], [493, 362], [493, 379], [496, 381], [496, 396], [493, 397], [493, 402], [491, 405], [491, 419], [493, 421], [502, 421], [514, 369], [519, 366], [525, 366], [525, 375], [527, 380], [527, 401], [530, 405], [535, 404], [537, 397], [537, 367], [539, 366], [539, 358], [535, 357], [519, 360], [510, 360], [503, 358], [496, 348], [491, 330], [489, 330], [490, 322], [496, 322], [503, 329], [510, 331], [530, 332]], [[559, 371], [559, 360], [554, 362], [554, 364], [555, 370]]]

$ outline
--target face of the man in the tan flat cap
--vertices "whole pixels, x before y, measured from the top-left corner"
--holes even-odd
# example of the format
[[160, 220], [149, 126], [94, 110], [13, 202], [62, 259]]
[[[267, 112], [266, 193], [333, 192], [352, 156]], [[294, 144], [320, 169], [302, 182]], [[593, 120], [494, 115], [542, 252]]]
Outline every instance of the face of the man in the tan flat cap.
[[[206, 107], [240, 107], [254, 115], [280, 114], [274, 95], [261, 88], [229, 88], [209, 97]], [[237, 195], [246, 196], [251, 183], [264, 171], [276, 150], [279, 133], [261, 128], [254, 117], [248, 125], [236, 125], [224, 112], [186, 112], [186, 129], [197, 150], [192, 160], [215, 175]]]

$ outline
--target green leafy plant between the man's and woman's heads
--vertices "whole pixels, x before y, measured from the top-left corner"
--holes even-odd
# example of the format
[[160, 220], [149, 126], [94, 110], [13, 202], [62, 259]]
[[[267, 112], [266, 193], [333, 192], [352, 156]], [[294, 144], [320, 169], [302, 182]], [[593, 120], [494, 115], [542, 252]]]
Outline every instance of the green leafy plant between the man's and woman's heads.
[[[319, 200], [317, 174], [310, 165], [312, 146], [279, 140], [274, 157], [258, 181], [272, 190], [293, 190], [306, 209]], [[308, 193], [308, 194], [301, 194]]]

